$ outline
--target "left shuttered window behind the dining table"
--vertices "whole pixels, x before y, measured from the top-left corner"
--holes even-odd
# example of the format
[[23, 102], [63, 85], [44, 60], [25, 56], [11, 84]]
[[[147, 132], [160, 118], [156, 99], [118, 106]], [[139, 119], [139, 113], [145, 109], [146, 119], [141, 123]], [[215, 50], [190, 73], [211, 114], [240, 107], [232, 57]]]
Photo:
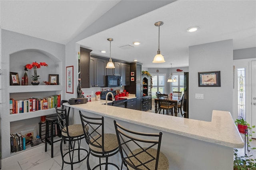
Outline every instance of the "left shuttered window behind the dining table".
[[151, 74], [152, 75], [152, 98], [156, 98], [156, 92], [160, 91], [165, 93], [166, 86], [166, 74]]

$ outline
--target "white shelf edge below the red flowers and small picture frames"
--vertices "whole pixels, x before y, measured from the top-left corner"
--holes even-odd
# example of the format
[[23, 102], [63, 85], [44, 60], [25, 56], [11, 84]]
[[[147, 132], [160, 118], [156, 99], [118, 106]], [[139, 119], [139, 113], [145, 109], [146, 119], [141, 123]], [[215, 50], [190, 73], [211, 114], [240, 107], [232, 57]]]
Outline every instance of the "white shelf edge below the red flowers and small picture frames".
[[62, 85], [23, 85], [9, 86], [9, 93], [42, 92], [42, 91], [62, 91]]

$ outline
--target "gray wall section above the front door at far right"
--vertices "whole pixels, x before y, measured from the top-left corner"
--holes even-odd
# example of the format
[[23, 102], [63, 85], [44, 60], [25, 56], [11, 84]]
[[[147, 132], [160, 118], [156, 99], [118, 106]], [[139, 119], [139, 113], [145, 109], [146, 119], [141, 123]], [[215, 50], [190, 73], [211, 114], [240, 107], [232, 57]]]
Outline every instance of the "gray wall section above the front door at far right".
[[233, 59], [247, 59], [256, 57], [256, 47], [235, 49]]

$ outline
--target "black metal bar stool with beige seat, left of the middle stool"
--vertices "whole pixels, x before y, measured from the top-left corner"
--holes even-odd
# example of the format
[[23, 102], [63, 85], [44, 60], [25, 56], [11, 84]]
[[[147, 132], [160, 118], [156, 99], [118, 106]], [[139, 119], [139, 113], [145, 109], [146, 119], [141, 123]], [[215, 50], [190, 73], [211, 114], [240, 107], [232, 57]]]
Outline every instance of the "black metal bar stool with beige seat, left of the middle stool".
[[[57, 113], [57, 118], [58, 118], [58, 123], [60, 125], [60, 130], [61, 130], [61, 135], [62, 135], [62, 140], [60, 142], [60, 153], [62, 157], [62, 169], [65, 164], [70, 164], [71, 165], [71, 170], [73, 170], [73, 164], [77, 164], [79, 162], [82, 162], [88, 157], [88, 150], [81, 148], [81, 139], [85, 138], [84, 136], [84, 130], [82, 127], [82, 124], [74, 124], [74, 125], [69, 125], [68, 124], [68, 115], [66, 109], [57, 109], [55, 107], [56, 113]], [[86, 130], [88, 131], [89, 127], [85, 127]], [[68, 152], [63, 154], [62, 150], [62, 143], [66, 141], [68, 142]], [[76, 147], [76, 142], [77, 147]], [[74, 160], [74, 152], [77, 152], [76, 157], [78, 157], [78, 160]], [[80, 154], [83, 154], [84, 157], [80, 158]], [[70, 162], [68, 162], [68, 159], [66, 156], [69, 157]]]

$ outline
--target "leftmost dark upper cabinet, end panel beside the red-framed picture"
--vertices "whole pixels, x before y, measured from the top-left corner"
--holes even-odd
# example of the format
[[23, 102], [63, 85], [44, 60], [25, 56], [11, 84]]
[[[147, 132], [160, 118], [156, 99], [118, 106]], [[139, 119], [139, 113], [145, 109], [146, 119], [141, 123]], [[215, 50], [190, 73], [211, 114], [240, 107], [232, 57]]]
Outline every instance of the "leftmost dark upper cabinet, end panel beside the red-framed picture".
[[80, 61], [78, 67], [80, 69], [81, 87], [90, 87], [90, 52], [92, 50], [80, 47]]

